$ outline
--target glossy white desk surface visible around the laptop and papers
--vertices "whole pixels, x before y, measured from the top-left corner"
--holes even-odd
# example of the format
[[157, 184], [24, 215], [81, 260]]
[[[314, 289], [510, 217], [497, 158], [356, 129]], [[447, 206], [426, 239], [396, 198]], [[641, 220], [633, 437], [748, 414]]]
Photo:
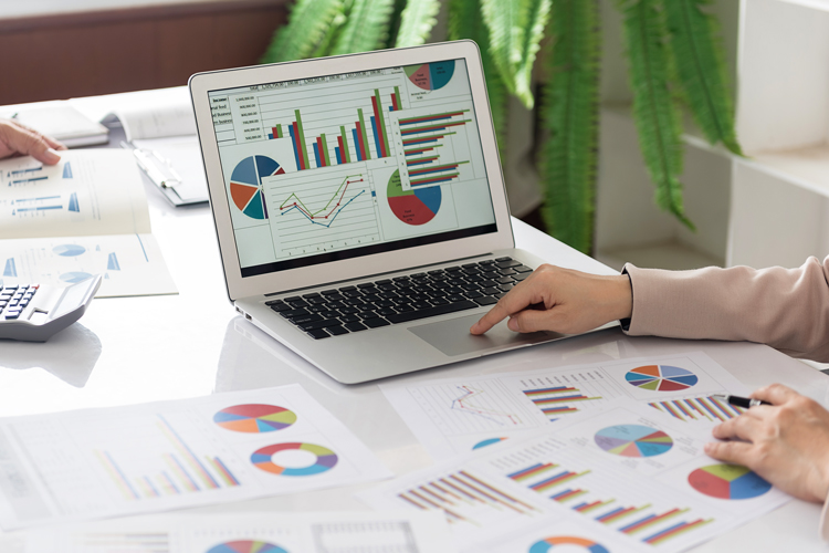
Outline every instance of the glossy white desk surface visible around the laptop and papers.
[[[151, 102], [182, 90], [73, 101], [93, 117], [124, 102]], [[6, 109], [0, 109], [4, 113]], [[153, 232], [179, 295], [105, 299], [45, 344], [0, 344], [0, 416], [186, 398], [288, 383], [302, 384], [387, 466], [403, 473], [431, 460], [376, 384], [344, 386], [234, 315], [227, 298], [208, 207], [174, 208], [147, 185]], [[518, 247], [564, 267], [612, 271], [514, 220]], [[594, 363], [609, 358], [703, 351], [751, 388], [784, 382], [827, 404], [829, 378], [769, 347], [745, 343], [631, 338], [618, 330], [398, 377], [452, 375]], [[365, 510], [339, 488], [201, 512]], [[825, 551], [819, 505], [795, 501], [695, 551]]]

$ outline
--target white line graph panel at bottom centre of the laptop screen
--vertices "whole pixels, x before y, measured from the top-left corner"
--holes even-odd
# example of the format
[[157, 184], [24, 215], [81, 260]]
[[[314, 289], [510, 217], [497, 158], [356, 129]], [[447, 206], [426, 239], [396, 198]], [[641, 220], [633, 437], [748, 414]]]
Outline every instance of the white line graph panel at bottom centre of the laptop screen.
[[280, 175], [265, 195], [282, 255], [307, 255], [380, 241], [368, 171], [354, 164]]

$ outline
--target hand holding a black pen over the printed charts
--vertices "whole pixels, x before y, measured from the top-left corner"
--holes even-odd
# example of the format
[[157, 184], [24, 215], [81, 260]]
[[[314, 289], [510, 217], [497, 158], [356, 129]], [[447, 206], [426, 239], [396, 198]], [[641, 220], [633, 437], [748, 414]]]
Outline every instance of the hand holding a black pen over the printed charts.
[[758, 405], [714, 428], [721, 441], [705, 444], [705, 452], [743, 465], [780, 490], [822, 503], [829, 491], [829, 411], [817, 401], [781, 384], [760, 388]]

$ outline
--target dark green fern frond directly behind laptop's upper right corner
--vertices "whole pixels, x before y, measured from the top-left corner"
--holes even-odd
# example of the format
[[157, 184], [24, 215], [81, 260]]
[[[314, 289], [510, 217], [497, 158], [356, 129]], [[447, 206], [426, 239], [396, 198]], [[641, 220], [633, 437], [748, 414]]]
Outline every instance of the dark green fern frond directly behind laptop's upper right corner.
[[449, 0], [449, 40], [471, 39], [481, 51], [486, 93], [490, 98], [492, 122], [495, 126], [499, 152], [503, 159], [506, 152], [506, 98], [507, 88], [492, 59], [490, 30], [481, 13], [480, 0]]

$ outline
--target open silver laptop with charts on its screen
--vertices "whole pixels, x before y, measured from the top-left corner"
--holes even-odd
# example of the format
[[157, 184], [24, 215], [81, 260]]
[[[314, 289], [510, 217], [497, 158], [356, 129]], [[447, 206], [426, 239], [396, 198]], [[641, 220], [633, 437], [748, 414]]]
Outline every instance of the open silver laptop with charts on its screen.
[[469, 327], [515, 248], [472, 41], [190, 77], [228, 295], [354, 384], [564, 337]]

